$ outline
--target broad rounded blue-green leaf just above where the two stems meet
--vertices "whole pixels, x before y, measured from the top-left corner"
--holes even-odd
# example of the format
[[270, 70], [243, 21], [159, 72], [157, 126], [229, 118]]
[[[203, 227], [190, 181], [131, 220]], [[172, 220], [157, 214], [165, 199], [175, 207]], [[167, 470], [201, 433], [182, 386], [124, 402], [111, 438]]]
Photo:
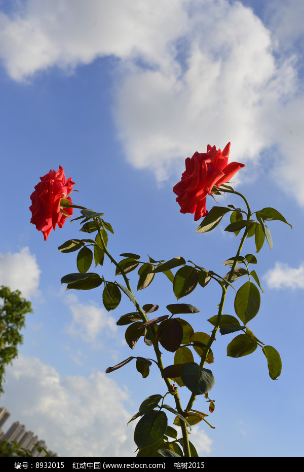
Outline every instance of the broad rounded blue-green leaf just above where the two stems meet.
[[213, 373], [196, 362], [184, 364], [180, 371], [181, 380], [194, 395], [207, 394], [214, 386]]

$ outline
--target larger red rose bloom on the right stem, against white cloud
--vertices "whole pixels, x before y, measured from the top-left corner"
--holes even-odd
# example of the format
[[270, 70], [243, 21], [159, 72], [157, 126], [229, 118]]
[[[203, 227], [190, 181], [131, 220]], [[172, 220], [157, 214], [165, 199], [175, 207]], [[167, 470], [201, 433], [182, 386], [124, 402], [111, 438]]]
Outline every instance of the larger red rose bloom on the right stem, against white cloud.
[[206, 216], [206, 197], [213, 186], [229, 182], [241, 167], [245, 167], [238, 162], [228, 164], [229, 151], [230, 143], [223, 151], [208, 144], [207, 152], [195, 152], [191, 159], [186, 159], [186, 170], [173, 187], [181, 213], [195, 213], [195, 221]]

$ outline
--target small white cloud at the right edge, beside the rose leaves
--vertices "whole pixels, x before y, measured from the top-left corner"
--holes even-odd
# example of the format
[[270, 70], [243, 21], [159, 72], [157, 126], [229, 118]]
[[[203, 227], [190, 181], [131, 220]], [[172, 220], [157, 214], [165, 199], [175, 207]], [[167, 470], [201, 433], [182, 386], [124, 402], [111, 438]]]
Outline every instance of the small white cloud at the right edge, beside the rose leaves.
[[272, 289], [304, 289], [304, 263], [299, 264], [298, 268], [293, 268], [288, 264], [276, 262], [275, 267], [265, 273], [264, 280]]

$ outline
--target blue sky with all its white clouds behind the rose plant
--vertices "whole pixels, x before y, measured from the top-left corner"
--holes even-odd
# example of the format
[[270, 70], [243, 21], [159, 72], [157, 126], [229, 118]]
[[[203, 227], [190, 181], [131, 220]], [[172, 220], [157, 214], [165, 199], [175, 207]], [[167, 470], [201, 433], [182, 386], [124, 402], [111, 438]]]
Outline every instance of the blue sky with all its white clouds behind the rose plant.
[[[208, 457], [302, 455], [303, 14], [299, 0], [0, 2], [0, 285], [20, 289], [34, 309], [7, 369], [0, 402], [12, 414], [7, 426], [20, 421], [61, 456], [132, 456], [128, 420], [148, 395], [165, 392], [154, 369], [146, 379], [133, 363], [104, 373], [151, 352], [139, 343], [131, 351], [116, 326], [133, 310], [128, 300], [107, 313], [98, 289], [61, 286], [76, 270], [75, 253], [57, 248], [78, 238], [79, 226], [67, 221], [44, 242], [29, 223], [39, 177], [64, 168], [77, 183], [74, 203], [104, 212], [112, 224], [115, 257], [181, 255], [224, 274], [237, 238], [224, 222], [196, 233], [172, 187], [187, 156], [231, 141], [230, 160], [246, 165], [236, 188], [254, 211], [274, 207], [293, 225], [269, 224], [274, 247], [263, 247], [256, 268], [265, 294], [250, 322], [280, 352], [283, 371], [272, 381], [260, 350], [226, 357], [232, 336], [218, 336], [215, 429], [201, 422], [192, 439]], [[239, 204], [219, 201], [230, 203]], [[253, 242], [245, 251], [254, 252]], [[101, 273], [113, 278], [110, 264]], [[200, 313], [185, 319], [209, 332], [219, 297], [217, 284], [197, 289], [182, 301]], [[227, 314], [234, 314], [233, 297]], [[175, 301], [161, 275], [138, 299], [159, 304], [160, 314]], [[203, 398], [196, 407], [208, 410]]]

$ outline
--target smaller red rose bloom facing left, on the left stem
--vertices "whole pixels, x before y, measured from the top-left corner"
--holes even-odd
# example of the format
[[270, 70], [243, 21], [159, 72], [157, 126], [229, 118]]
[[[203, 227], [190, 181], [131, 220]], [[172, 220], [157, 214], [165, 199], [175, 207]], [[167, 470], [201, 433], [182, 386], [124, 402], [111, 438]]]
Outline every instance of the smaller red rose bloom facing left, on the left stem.
[[66, 214], [60, 213], [60, 202], [63, 198], [72, 202], [67, 195], [75, 184], [71, 177], [65, 180], [61, 166], [58, 172], [50, 170], [44, 177], [40, 177], [40, 180], [41, 182], [35, 186], [35, 190], [30, 195], [32, 202], [29, 207], [32, 213], [30, 222], [36, 226], [37, 230], [43, 232], [46, 241], [52, 228], [55, 229], [57, 224], [59, 228], [62, 228], [65, 218], [72, 215], [72, 208], [64, 208]]

